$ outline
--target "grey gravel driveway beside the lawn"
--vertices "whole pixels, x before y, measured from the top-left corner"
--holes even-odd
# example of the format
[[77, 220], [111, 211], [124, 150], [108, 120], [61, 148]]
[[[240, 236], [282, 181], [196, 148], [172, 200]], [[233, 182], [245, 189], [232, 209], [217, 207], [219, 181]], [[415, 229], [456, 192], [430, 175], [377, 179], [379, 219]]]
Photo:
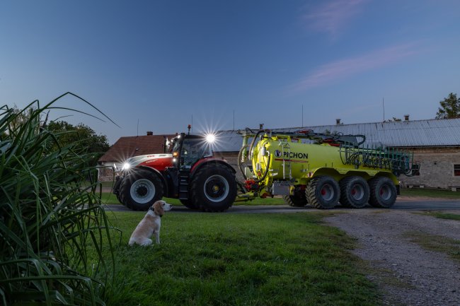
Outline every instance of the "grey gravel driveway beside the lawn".
[[380, 209], [347, 210], [325, 220], [357, 238], [360, 247], [352, 252], [369, 263], [368, 277], [383, 291], [384, 305], [460, 305], [460, 263], [408, 237], [425, 233], [460, 241], [460, 221]]

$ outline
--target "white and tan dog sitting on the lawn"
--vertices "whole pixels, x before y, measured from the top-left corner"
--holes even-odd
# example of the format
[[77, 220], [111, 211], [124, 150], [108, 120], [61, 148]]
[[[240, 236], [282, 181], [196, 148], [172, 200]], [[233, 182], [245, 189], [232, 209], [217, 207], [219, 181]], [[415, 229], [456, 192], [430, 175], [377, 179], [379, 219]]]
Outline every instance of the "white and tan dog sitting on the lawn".
[[142, 246], [151, 245], [153, 242], [150, 237], [154, 234], [156, 243], [159, 244], [161, 217], [165, 211], [171, 211], [171, 208], [173, 206], [167, 204], [165, 201], [156, 201], [154, 205], [149, 207], [149, 211], [147, 211], [144, 218], [142, 218], [134, 232], [132, 232], [128, 245], [134, 245], [134, 243]]

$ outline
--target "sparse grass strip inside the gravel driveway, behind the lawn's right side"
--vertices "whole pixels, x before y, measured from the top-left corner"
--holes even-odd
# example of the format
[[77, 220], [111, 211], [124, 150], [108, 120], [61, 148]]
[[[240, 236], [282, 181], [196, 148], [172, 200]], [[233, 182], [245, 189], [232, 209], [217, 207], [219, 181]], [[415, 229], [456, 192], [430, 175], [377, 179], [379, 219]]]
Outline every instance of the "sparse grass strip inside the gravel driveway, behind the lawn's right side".
[[457, 262], [460, 262], [460, 241], [449, 237], [430, 235], [422, 232], [408, 232], [405, 234], [411, 242], [415, 242], [424, 249], [442, 252]]

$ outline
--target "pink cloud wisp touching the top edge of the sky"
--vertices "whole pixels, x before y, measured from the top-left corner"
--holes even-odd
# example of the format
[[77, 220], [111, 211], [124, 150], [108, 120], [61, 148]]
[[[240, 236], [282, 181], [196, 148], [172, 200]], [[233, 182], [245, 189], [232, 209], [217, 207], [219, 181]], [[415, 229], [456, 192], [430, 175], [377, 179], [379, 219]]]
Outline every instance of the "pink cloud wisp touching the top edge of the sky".
[[309, 9], [304, 15], [306, 25], [312, 30], [326, 32], [332, 37], [337, 35], [350, 22], [353, 16], [360, 13], [362, 4], [367, 0], [333, 0], [316, 8]]

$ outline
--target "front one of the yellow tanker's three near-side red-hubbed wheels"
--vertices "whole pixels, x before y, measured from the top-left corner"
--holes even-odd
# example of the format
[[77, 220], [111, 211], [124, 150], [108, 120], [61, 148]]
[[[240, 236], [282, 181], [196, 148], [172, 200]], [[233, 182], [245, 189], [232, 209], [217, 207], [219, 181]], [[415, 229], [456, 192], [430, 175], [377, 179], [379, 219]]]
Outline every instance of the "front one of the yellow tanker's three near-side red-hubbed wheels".
[[321, 176], [310, 180], [305, 190], [306, 199], [315, 208], [334, 208], [340, 199], [340, 188], [333, 177]]

